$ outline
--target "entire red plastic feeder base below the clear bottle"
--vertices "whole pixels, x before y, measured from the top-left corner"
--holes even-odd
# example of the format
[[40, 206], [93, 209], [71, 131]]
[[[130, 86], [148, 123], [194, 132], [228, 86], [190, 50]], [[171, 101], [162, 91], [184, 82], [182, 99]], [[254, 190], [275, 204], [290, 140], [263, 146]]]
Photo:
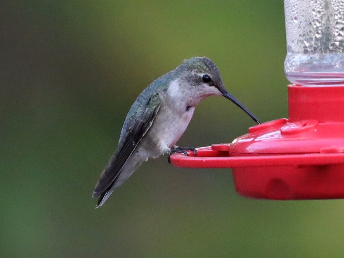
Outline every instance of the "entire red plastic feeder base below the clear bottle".
[[275, 200], [344, 198], [344, 87], [288, 86], [289, 119], [229, 144], [176, 153], [185, 168], [232, 168], [238, 194]]

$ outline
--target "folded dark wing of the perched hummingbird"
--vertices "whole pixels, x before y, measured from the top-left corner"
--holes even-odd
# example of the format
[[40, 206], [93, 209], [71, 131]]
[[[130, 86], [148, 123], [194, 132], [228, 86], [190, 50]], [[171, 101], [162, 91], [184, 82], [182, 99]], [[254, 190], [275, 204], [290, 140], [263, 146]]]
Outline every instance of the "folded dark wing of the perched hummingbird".
[[93, 192], [93, 197], [100, 196], [99, 201], [111, 189], [128, 158], [152, 126], [154, 118], [160, 109], [161, 103], [158, 94], [153, 94], [148, 101], [144, 101], [147, 98], [141, 97], [141, 95], [128, 112], [117, 150], [100, 175], [100, 179]]

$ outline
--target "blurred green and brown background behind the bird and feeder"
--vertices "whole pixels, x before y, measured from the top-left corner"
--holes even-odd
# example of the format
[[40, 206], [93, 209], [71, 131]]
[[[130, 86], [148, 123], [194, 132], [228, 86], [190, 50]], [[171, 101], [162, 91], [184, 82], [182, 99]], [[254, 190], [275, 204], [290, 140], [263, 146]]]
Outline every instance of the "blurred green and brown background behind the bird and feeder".
[[[143, 164], [91, 197], [131, 104], [185, 58], [213, 59], [262, 121], [287, 117], [282, 0], [1, 1], [0, 257], [343, 257], [343, 201], [236, 194], [225, 169]], [[209, 97], [181, 146], [254, 122]]]

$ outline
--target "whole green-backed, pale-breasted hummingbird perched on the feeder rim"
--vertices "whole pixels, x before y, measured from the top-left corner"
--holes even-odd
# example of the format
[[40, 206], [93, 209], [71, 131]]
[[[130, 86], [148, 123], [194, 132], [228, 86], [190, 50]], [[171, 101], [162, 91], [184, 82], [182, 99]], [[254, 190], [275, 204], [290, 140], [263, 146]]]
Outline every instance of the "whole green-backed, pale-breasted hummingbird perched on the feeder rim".
[[208, 96], [223, 96], [258, 119], [228, 93], [219, 69], [207, 57], [191, 57], [154, 80], [135, 100], [124, 121], [118, 147], [100, 175], [93, 191], [96, 208], [126, 181], [144, 162], [164, 153], [169, 155], [195, 148], [176, 146], [194, 114], [195, 107]]

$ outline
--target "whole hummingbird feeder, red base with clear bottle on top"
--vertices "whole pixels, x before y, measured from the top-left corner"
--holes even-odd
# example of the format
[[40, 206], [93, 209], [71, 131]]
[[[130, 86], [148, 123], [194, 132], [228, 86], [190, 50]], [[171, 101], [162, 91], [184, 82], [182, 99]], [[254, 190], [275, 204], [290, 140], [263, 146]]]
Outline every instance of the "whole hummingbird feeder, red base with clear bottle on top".
[[232, 143], [171, 155], [183, 168], [232, 168], [251, 198], [344, 198], [343, 0], [284, 0], [288, 115]]

